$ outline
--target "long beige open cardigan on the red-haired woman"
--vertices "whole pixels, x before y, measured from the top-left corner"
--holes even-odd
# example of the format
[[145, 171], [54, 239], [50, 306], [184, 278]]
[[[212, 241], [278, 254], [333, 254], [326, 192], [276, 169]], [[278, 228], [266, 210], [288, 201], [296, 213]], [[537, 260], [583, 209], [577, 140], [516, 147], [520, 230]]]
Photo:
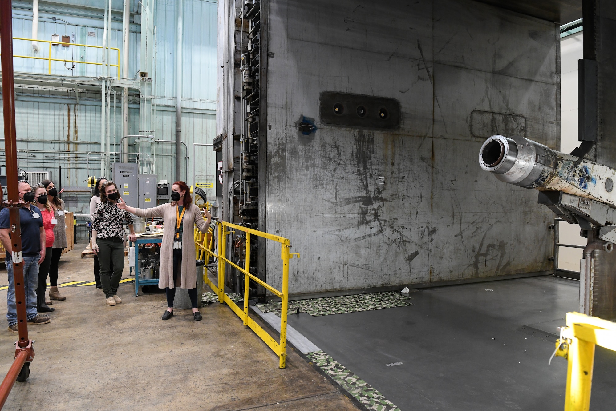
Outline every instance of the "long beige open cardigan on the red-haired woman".
[[[174, 288], [179, 285], [182, 289], [197, 287], [197, 265], [195, 264], [195, 242], [193, 228], [201, 233], [208, 231], [208, 225], [203, 220], [201, 210], [195, 204], [190, 204], [184, 213], [184, 228], [182, 229], [182, 269], [180, 271], [179, 284], [173, 284], [173, 234], [177, 223], [176, 205], [168, 202], [152, 209], [135, 209], [134, 214], [139, 217], [162, 217], [164, 222], [163, 243], [160, 246], [160, 278], [158, 287]], [[194, 224], [190, 224], [194, 221]]]

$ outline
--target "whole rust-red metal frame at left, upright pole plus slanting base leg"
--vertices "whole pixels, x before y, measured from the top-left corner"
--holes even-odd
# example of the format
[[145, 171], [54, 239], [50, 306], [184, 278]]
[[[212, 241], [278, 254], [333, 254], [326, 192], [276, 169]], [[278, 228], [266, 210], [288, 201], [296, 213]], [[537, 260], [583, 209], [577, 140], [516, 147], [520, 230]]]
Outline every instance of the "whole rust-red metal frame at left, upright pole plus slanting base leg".
[[15, 134], [15, 82], [13, 70], [13, 25], [10, 1], [0, 2], [0, 54], [2, 58], [2, 115], [4, 116], [4, 145], [6, 153], [6, 183], [8, 199], [4, 207], [9, 209], [10, 239], [12, 246], [15, 301], [17, 305], [17, 329], [15, 359], [0, 385], [0, 408], [4, 406], [10, 389], [17, 381], [25, 381], [30, 375], [30, 362], [34, 358], [34, 341], [28, 338], [26, 319], [26, 296], [23, 284], [22, 232], [19, 221], [20, 200], [17, 184], [17, 135]]

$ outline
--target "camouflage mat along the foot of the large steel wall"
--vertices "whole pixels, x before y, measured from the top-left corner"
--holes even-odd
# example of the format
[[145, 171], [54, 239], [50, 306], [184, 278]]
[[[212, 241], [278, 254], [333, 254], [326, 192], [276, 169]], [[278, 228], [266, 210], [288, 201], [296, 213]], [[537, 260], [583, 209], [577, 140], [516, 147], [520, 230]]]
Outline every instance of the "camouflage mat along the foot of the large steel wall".
[[[331, 314], [357, 313], [371, 309], [394, 308], [413, 305], [411, 297], [399, 292], [378, 292], [370, 294], [341, 295], [340, 297], [310, 298], [308, 300], [289, 301], [288, 314], [307, 313], [313, 317]], [[282, 303], [269, 301], [257, 304], [264, 313], [280, 316]]]

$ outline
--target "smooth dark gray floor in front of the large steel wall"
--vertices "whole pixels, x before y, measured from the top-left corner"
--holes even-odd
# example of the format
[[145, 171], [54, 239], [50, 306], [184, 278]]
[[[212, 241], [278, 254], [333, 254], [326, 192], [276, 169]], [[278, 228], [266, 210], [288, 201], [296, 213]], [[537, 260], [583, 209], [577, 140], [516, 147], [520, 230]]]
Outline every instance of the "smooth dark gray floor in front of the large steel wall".
[[[289, 324], [402, 411], [564, 409], [567, 361], [548, 365], [555, 340], [545, 331], [557, 334], [554, 320], [577, 311], [577, 282], [544, 276], [410, 295], [414, 306], [295, 314]], [[593, 411], [615, 409], [615, 354], [597, 349]]]

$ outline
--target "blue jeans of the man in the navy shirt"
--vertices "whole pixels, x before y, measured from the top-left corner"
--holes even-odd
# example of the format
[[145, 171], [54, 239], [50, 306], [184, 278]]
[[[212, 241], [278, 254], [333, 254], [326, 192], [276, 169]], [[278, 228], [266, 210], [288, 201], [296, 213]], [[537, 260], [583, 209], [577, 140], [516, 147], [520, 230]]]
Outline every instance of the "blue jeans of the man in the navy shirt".
[[[26, 320], [36, 317], [36, 287], [38, 286], [38, 260], [40, 255], [23, 257], [23, 284], [26, 293]], [[6, 293], [6, 319], [10, 325], [17, 324], [17, 303], [15, 302], [15, 278], [13, 277], [13, 261], [6, 260], [6, 271], [9, 273], [9, 290]]]

